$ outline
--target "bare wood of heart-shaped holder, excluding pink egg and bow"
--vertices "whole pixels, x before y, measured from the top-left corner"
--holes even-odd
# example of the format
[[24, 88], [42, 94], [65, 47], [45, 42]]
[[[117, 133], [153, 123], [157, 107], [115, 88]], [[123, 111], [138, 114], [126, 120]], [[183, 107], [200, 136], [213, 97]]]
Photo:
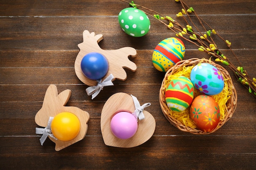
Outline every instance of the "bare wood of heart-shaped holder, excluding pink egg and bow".
[[143, 144], [152, 137], [155, 132], [155, 119], [146, 110], [143, 110], [145, 119], [138, 120], [138, 129], [134, 136], [129, 139], [119, 139], [115, 137], [110, 129], [110, 121], [115, 113], [120, 111], [127, 111], [129, 113], [135, 111], [132, 96], [126, 93], [116, 93], [112, 95], [103, 106], [101, 112], [101, 133], [106, 145], [120, 148], [132, 148]]

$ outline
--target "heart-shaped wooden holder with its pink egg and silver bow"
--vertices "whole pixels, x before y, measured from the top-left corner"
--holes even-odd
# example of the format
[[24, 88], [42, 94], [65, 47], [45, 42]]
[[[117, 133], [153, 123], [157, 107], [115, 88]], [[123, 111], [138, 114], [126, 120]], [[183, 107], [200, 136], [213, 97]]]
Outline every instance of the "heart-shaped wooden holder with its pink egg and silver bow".
[[[155, 132], [155, 118], [140, 106], [137, 97], [126, 93], [112, 95], [101, 112], [101, 133], [108, 146], [132, 148], [148, 141]], [[139, 119], [139, 121], [137, 120]]]

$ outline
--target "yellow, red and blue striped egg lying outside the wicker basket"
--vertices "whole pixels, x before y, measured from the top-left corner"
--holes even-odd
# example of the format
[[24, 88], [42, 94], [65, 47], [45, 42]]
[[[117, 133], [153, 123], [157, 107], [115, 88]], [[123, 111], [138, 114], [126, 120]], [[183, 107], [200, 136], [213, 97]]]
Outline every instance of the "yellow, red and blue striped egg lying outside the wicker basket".
[[153, 66], [162, 72], [168, 71], [177, 62], [183, 60], [185, 55], [185, 46], [182, 40], [178, 38], [166, 38], [162, 40], [153, 51]]

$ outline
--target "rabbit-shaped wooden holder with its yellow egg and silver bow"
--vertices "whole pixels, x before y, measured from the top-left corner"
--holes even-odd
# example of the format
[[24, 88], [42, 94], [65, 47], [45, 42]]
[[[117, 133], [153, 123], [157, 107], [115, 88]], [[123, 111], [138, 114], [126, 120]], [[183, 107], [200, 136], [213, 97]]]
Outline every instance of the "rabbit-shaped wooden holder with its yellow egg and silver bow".
[[[38, 126], [45, 128], [36, 128], [37, 134], [42, 134], [40, 138], [41, 145], [47, 137], [49, 137], [55, 144], [55, 150], [59, 151], [67, 146], [70, 146], [77, 141], [82, 140], [85, 137], [85, 134], [88, 129], [88, 120], [90, 115], [88, 112], [81, 110], [80, 108], [73, 106], [65, 106], [70, 99], [71, 91], [69, 89], [58, 94], [57, 87], [51, 84], [45, 93], [45, 98], [43, 101], [42, 108], [36, 113], [35, 121]], [[65, 113], [65, 114], [63, 114]], [[62, 116], [62, 117], [61, 117]], [[66, 117], [65, 117], [66, 116]], [[58, 117], [58, 118], [57, 118]], [[54, 119], [56, 120], [55, 127], [51, 127], [54, 124]], [[67, 118], [67, 122], [62, 121]], [[74, 121], [75, 120], [75, 121]], [[76, 121], [77, 120], [77, 121]], [[63, 124], [61, 124], [63, 123]], [[66, 126], [65, 126], [66, 124]], [[56, 127], [57, 126], [57, 127]], [[60, 127], [58, 127], [60, 126]], [[76, 130], [76, 134], [72, 139], [68, 139], [71, 132], [66, 132], [65, 127], [73, 128]], [[57, 136], [54, 136], [52, 133], [52, 128], [55, 128], [57, 131], [56, 134], [60, 135], [62, 132], [58, 132], [58, 129], [61, 129], [63, 132], [63, 140], [58, 139]], [[75, 129], [76, 128], [76, 129]], [[68, 131], [68, 130], [67, 130]], [[61, 134], [62, 135], [62, 134]]]

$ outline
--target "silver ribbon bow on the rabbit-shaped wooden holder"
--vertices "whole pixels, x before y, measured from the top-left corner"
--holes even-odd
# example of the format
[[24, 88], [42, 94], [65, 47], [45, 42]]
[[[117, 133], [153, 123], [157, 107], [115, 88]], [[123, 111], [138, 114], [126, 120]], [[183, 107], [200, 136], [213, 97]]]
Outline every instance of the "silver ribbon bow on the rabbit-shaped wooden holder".
[[49, 117], [48, 124], [45, 128], [36, 128], [36, 134], [43, 134], [42, 137], [40, 138], [40, 143], [42, 146], [48, 136], [57, 140], [57, 138], [54, 137], [54, 135], [52, 134], [52, 130], [51, 130], [52, 120], [53, 120], [53, 117]]

